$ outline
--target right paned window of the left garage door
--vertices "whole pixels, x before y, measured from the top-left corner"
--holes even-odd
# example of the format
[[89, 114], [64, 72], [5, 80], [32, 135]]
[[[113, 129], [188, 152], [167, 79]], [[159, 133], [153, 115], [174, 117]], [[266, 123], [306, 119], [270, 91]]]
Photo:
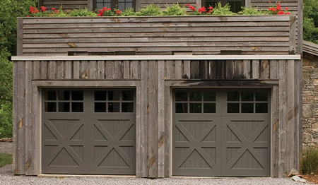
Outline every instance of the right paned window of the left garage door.
[[96, 90], [95, 112], [134, 112], [134, 91]]

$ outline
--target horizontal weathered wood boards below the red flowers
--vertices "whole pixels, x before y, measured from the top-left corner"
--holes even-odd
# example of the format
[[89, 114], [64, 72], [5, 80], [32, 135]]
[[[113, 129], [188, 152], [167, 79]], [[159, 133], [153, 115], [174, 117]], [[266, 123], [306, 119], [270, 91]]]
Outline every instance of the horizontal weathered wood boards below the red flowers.
[[288, 54], [295, 48], [293, 20], [293, 16], [18, 18], [22, 27], [18, 55]]

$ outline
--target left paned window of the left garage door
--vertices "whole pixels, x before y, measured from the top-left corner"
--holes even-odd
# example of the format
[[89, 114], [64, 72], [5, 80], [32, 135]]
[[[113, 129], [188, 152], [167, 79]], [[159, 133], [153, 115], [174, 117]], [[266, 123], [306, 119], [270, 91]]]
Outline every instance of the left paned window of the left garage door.
[[45, 112], [83, 112], [83, 91], [45, 91]]

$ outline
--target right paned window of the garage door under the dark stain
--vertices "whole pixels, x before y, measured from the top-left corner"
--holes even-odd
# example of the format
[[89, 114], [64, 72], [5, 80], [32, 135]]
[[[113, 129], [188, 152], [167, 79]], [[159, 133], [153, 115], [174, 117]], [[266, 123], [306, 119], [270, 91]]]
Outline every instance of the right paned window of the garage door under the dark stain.
[[229, 91], [228, 113], [268, 113], [268, 93], [255, 91]]

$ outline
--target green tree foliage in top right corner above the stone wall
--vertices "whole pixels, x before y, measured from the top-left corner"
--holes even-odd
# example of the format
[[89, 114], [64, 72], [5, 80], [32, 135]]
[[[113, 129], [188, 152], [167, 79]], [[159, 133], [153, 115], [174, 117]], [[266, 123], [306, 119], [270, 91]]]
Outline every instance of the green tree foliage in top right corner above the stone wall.
[[303, 37], [318, 44], [318, 1], [304, 0]]

